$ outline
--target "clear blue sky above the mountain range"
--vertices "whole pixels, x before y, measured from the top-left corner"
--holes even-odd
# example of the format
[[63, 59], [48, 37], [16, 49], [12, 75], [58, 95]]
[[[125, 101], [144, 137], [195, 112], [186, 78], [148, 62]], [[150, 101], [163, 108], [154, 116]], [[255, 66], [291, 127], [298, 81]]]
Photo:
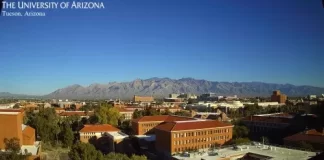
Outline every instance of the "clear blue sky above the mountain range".
[[150, 77], [324, 87], [321, 0], [103, 0], [0, 17], [0, 92]]

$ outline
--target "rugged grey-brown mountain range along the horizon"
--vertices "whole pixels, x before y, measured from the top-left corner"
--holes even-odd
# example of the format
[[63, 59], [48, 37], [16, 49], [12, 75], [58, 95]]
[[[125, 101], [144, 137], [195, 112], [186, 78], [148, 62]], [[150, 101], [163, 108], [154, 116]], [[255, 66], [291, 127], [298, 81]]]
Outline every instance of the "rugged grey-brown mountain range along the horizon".
[[[288, 96], [306, 96], [308, 94], [323, 94], [324, 88], [313, 86], [296, 86], [292, 84], [273, 84], [263, 82], [213, 82], [193, 78], [170, 79], [150, 78], [136, 79], [131, 82], [110, 82], [108, 84], [94, 83], [84, 87], [74, 84], [58, 89], [41, 98], [68, 99], [131, 99], [134, 95], [154, 96], [163, 98], [171, 93], [193, 93], [200, 95], [213, 92], [218, 95], [241, 97], [267, 96], [272, 91], [280, 90]], [[4, 97], [6, 92], [0, 93]], [[10, 94], [10, 93], [7, 93]], [[14, 94], [10, 94], [14, 97]], [[23, 95], [19, 95], [21, 97]], [[8, 97], [8, 95], [7, 95]]]

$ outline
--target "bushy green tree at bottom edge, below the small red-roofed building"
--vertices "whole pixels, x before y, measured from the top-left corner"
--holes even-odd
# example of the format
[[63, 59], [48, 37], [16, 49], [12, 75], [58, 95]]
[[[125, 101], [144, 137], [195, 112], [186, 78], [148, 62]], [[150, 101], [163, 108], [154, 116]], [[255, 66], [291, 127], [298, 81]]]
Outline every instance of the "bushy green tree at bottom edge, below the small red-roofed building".
[[103, 160], [103, 155], [100, 151], [89, 143], [77, 143], [72, 146], [68, 153], [71, 160]]

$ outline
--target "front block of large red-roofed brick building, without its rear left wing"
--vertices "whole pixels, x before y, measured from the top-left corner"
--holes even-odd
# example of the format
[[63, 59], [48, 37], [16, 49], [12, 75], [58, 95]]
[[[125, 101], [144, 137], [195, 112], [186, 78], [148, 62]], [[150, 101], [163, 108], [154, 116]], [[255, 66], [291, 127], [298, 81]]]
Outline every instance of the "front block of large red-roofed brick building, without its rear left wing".
[[156, 149], [166, 155], [207, 150], [232, 139], [233, 125], [214, 120], [173, 121], [155, 128]]

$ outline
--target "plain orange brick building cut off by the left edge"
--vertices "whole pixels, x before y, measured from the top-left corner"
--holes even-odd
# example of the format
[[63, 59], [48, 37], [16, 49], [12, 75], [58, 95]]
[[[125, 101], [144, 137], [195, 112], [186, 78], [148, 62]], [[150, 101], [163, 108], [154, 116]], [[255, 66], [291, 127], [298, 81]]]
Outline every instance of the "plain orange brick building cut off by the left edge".
[[21, 109], [0, 109], [0, 150], [5, 149], [4, 139], [18, 138], [21, 151], [31, 153], [36, 159], [40, 153], [40, 143], [35, 141], [35, 129], [23, 124], [24, 111]]

